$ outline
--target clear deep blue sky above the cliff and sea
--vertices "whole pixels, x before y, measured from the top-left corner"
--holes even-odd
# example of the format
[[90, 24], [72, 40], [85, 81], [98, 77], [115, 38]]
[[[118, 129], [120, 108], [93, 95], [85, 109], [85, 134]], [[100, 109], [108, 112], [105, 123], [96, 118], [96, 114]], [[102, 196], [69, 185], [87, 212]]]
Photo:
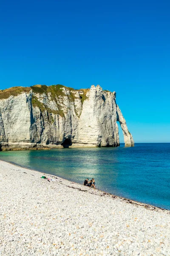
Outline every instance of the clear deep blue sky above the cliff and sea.
[[2, 0], [0, 24], [0, 89], [100, 84], [135, 142], [170, 143], [170, 1]]

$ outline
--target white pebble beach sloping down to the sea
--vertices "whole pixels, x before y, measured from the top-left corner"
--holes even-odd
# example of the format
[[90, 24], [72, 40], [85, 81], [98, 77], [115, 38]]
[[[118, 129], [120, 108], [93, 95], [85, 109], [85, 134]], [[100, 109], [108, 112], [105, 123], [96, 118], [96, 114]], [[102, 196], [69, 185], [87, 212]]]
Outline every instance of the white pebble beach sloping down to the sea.
[[0, 161], [0, 255], [168, 256], [170, 211]]

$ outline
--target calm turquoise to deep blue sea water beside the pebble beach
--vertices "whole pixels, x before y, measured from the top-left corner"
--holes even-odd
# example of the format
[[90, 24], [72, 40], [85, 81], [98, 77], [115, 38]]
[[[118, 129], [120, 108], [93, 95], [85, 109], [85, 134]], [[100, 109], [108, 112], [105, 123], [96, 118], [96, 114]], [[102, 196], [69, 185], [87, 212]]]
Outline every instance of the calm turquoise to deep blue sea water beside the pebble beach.
[[98, 189], [170, 209], [170, 143], [1, 151], [0, 159], [78, 183], [94, 177]]

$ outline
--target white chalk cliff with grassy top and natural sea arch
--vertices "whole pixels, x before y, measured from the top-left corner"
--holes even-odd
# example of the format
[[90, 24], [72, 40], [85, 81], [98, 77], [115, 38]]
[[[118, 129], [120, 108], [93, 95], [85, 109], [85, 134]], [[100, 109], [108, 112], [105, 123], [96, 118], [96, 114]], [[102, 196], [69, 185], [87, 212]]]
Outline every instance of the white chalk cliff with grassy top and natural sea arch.
[[74, 90], [62, 85], [13, 87], [0, 91], [0, 148], [119, 146], [120, 122], [125, 146], [133, 137], [116, 104], [116, 93]]

